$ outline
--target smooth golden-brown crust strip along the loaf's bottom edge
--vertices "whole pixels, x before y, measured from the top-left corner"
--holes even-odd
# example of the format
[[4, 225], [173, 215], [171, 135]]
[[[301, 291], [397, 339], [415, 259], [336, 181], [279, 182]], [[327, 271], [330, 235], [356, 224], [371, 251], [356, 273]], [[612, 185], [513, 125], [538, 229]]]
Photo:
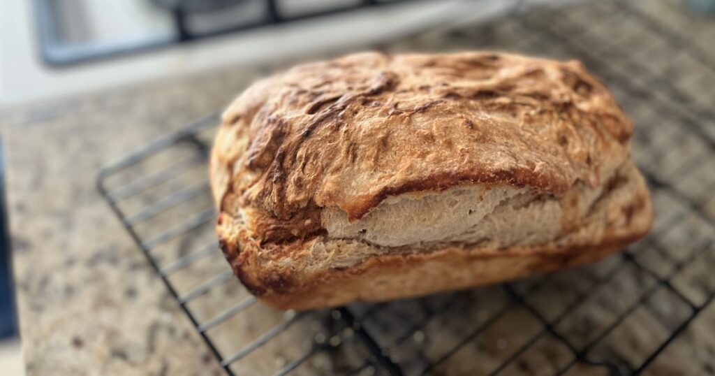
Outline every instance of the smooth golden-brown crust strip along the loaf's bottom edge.
[[[325, 271], [300, 289], [283, 293], [267, 290], [257, 296], [273, 307], [297, 310], [420, 297], [598, 261], [639, 237], [613, 239], [610, 245], [572, 246], [560, 251], [544, 247], [515, 249], [503, 254], [470, 254], [463, 249], [444, 249], [431, 254], [376, 256], [355, 268]], [[500, 273], [488, 272], [490, 269]], [[385, 279], [385, 276], [393, 278]], [[280, 285], [286, 283], [280, 278], [276, 281]]]

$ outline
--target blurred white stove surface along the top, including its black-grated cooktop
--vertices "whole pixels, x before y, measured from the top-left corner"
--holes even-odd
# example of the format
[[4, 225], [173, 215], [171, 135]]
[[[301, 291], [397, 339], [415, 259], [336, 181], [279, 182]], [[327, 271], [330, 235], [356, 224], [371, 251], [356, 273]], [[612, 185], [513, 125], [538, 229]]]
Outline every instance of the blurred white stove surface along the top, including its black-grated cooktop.
[[[515, 1], [4, 0], [3, 102], [368, 46]], [[133, 55], [133, 56], [131, 56]], [[128, 57], [129, 56], [129, 57]], [[101, 76], [102, 79], [97, 79]]]

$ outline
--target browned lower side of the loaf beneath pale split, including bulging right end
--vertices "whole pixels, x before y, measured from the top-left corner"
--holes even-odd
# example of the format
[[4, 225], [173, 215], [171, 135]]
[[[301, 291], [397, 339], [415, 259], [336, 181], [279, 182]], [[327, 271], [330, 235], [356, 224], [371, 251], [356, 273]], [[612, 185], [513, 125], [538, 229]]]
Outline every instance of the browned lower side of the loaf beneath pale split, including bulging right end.
[[[310, 309], [355, 300], [379, 301], [506, 281], [596, 261], [643, 237], [653, 216], [649, 193], [632, 163], [625, 166], [623, 173], [628, 175], [613, 177], [612, 181], [618, 183], [606, 183], [608, 189], [588, 206], [588, 215], [580, 221], [580, 227], [544, 244], [503, 249], [464, 243], [428, 248], [385, 247], [359, 238], [320, 236], [309, 242], [261, 246], [247, 228], [243, 228], [238, 238], [222, 244], [227, 259], [247, 288], [280, 308]], [[235, 226], [221, 223], [220, 234], [224, 234], [222, 228]], [[227, 244], [242, 244], [245, 248], [239, 252], [228, 249]], [[353, 259], [342, 264], [325, 259], [322, 264], [311, 264], [320, 261], [315, 253], [316, 244], [330, 244]], [[442, 273], [439, 278], [430, 277], [435, 270]], [[445, 278], [449, 283], [443, 281]], [[423, 282], [425, 279], [436, 282], [428, 284]], [[384, 282], [376, 285], [375, 280]], [[385, 289], [382, 284], [393, 286], [394, 290]]]

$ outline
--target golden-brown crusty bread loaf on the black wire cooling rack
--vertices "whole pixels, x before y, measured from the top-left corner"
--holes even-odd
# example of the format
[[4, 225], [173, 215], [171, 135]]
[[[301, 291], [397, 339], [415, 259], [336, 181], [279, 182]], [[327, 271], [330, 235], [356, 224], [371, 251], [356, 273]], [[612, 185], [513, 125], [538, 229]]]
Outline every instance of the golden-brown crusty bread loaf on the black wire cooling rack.
[[576, 61], [375, 52], [300, 65], [222, 117], [220, 244], [282, 309], [596, 261], [651, 226], [632, 132]]

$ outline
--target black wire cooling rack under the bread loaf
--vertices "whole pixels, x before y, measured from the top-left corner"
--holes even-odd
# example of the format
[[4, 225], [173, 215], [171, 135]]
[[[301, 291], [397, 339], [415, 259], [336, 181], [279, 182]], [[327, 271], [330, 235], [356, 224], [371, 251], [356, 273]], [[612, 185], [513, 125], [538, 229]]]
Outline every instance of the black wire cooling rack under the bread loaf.
[[[98, 183], [228, 374], [712, 370], [699, 368], [694, 352], [669, 348], [678, 346], [675, 340], [715, 293], [713, 55], [682, 31], [695, 21], [671, 1], [526, 10], [387, 48], [506, 49], [581, 59], [636, 123], [633, 157], [656, 210], [649, 236], [597, 264], [511, 284], [279, 312], [242, 288], [217, 246], [206, 173], [213, 115], [107, 165]], [[715, 38], [713, 29], [703, 32], [713, 33], [706, 40]], [[698, 346], [698, 340], [689, 342]]]

